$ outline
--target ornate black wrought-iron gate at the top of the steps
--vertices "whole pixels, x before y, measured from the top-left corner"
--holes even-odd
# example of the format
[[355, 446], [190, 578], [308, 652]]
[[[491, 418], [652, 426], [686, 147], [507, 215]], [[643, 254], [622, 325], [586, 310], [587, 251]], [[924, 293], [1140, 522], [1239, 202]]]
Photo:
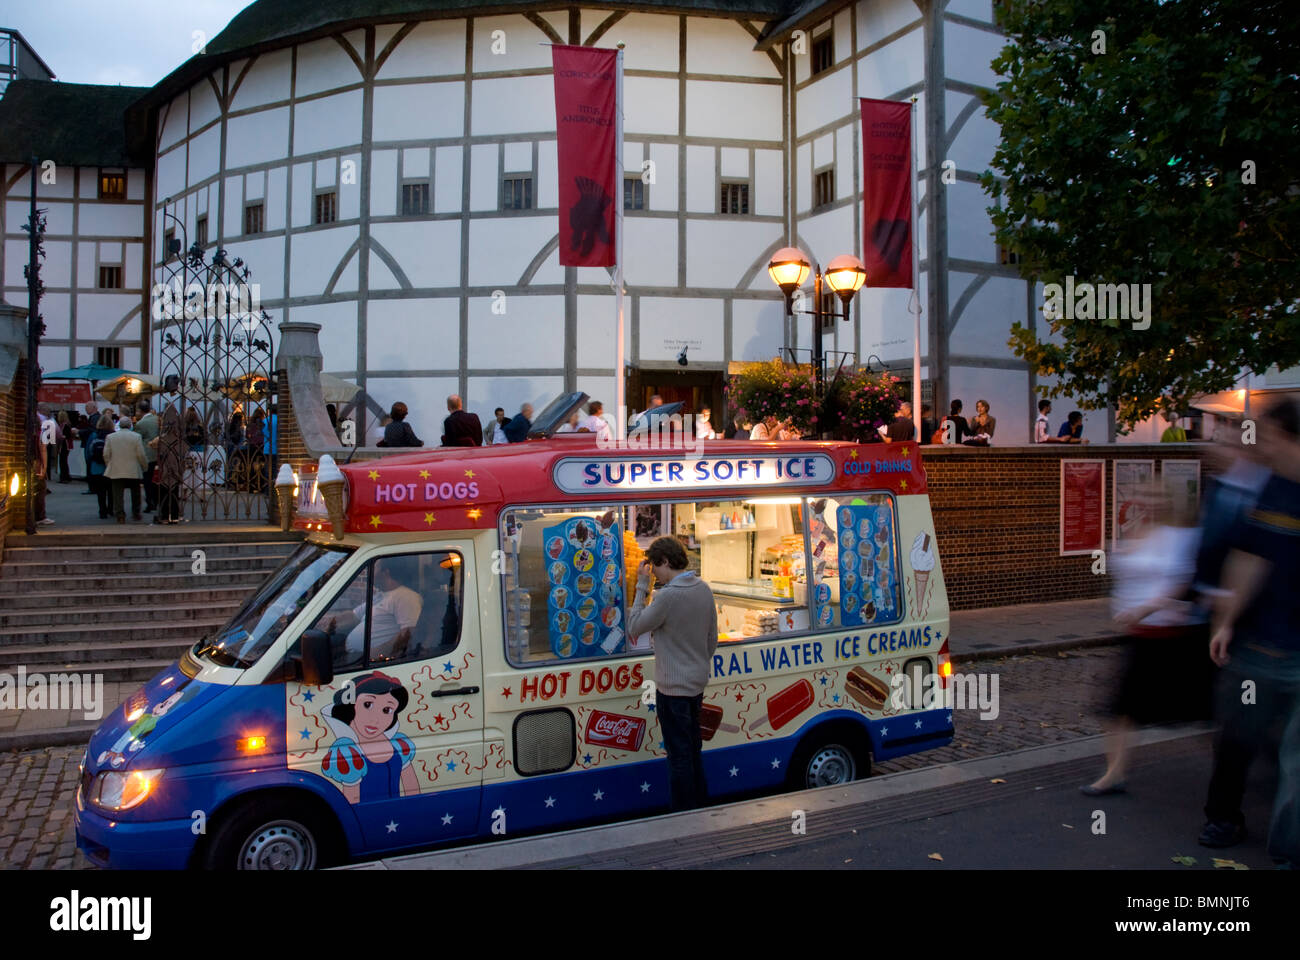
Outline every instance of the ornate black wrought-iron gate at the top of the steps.
[[[251, 272], [218, 247], [212, 259], [164, 209], [165, 261], [152, 290], [162, 420], [160, 480], [187, 519], [270, 519], [274, 340]], [[169, 416], [177, 418], [169, 428]], [[179, 476], [177, 476], [179, 473]], [[177, 481], [168, 484], [166, 481]], [[160, 489], [160, 515], [166, 489]]]

